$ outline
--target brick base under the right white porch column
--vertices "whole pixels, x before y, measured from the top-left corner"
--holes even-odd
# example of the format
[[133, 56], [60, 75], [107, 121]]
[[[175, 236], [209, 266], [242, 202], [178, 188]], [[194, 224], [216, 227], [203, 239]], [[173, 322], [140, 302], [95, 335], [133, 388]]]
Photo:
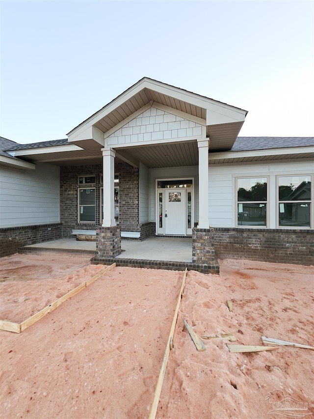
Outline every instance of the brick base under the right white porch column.
[[213, 228], [193, 228], [192, 261], [202, 265], [216, 263]]

